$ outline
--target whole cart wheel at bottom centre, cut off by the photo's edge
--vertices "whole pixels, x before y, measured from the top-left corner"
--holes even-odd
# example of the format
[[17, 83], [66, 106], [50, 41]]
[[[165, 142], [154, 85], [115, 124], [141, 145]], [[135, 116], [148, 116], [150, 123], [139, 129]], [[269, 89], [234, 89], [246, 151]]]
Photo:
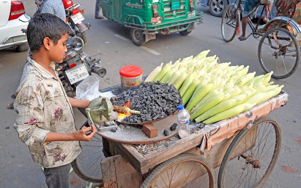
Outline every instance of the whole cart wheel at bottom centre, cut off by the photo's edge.
[[215, 187], [213, 168], [199, 155], [183, 153], [160, 164], [140, 188]]

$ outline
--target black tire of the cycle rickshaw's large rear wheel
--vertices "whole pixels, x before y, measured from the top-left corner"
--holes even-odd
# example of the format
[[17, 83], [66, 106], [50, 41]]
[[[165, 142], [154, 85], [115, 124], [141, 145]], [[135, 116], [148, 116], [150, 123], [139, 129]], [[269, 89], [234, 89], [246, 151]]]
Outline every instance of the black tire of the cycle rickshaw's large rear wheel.
[[[293, 45], [295, 46], [295, 51], [296, 51], [296, 55], [295, 55], [296, 56], [296, 60], [294, 61], [294, 64], [293, 64], [292, 69], [290, 71], [288, 71], [288, 72], [286, 71], [286, 69], [287, 69], [286, 65], [285, 65], [285, 63], [283, 63], [284, 64], [284, 69], [285, 69], [284, 74], [282, 74], [282, 73], [278, 74], [278, 72], [279, 72], [278, 70], [275, 70], [274, 68], [273, 68], [274, 70], [268, 68], [268, 62], [264, 62], [264, 60], [262, 60], [262, 47], [263, 47], [263, 44], [265, 44], [264, 43], [265, 42], [265, 38], [267, 38], [267, 36], [270, 35], [272, 32], [277, 32], [277, 31], [284, 32], [284, 33], [286, 33], [291, 38], [291, 40], [293, 42]], [[272, 44], [272, 42], [270, 44]], [[272, 56], [274, 56], [275, 59], [277, 59], [278, 58], [278, 54], [281, 53], [281, 51], [277, 52], [277, 54], [275, 54], [275, 53], [276, 53], [276, 51], [272, 54]], [[287, 53], [287, 52], [285, 52], [285, 53]], [[280, 55], [280, 57], [282, 57], [282, 55]], [[285, 58], [285, 56], [284, 56], [284, 58]], [[282, 57], [283, 61], [284, 61], [284, 58]], [[259, 46], [258, 46], [258, 59], [259, 59], [260, 66], [262, 67], [262, 69], [266, 73], [274, 71], [274, 73], [272, 74], [272, 78], [275, 78], [275, 79], [284, 79], [284, 78], [287, 78], [287, 77], [291, 76], [296, 71], [296, 69], [297, 69], [297, 67], [299, 65], [299, 62], [300, 62], [300, 47], [299, 47], [299, 43], [296, 40], [296, 38], [294, 37], [294, 35], [291, 32], [289, 32], [287, 29], [284, 29], [284, 28], [270, 29], [267, 32], [265, 32], [265, 34], [260, 39]], [[292, 62], [292, 61], [293, 60], [289, 60], [288, 62]], [[280, 58], [279, 58], [279, 63], [280, 63]], [[272, 64], [272, 65], [274, 65], [274, 64]], [[277, 64], [276, 64], [276, 66], [277, 66]], [[280, 64], [279, 66], [282, 66], [282, 65]]]

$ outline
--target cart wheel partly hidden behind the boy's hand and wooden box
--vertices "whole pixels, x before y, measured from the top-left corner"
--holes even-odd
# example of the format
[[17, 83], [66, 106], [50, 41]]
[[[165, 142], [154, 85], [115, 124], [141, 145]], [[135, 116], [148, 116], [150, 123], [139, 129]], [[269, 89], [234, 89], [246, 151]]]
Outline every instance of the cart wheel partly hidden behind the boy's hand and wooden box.
[[[88, 121], [82, 126], [88, 126]], [[83, 180], [94, 183], [103, 183], [101, 173], [101, 159], [105, 158], [102, 151], [102, 137], [95, 134], [89, 141], [81, 141], [82, 152], [71, 162], [74, 172]]]

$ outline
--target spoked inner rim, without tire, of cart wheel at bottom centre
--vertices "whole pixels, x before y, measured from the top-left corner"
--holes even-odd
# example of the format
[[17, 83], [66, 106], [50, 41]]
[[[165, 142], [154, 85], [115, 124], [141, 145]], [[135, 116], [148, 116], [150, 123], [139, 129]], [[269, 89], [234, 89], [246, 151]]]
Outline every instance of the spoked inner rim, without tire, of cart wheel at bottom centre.
[[164, 169], [148, 188], [213, 187], [206, 165], [197, 159], [185, 159]]

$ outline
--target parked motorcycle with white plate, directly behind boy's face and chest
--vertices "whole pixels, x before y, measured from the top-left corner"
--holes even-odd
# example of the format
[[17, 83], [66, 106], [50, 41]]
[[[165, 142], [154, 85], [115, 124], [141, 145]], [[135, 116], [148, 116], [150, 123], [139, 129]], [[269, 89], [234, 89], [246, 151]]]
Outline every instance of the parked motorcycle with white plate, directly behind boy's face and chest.
[[92, 72], [104, 77], [107, 70], [100, 65], [100, 59], [90, 57], [83, 52], [83, 44], [78, 42], [79, 37], [68, 39], [67, 52], [62, 63], [56, 63], [55, 70], [64, 85], [65, 91], [75, 94], [76, 86]]

